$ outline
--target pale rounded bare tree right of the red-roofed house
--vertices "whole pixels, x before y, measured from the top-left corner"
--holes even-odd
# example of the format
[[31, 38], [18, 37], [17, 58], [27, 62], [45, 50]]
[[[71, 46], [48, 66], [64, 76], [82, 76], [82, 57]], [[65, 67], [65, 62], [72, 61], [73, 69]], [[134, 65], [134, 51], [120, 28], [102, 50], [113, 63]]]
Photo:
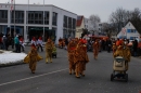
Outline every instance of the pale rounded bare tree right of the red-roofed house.
[[91, 24], [93, 25], [94, 30], [98, 30], [97, 25], [98, 25], [98, 23], [101, 22], [101, 18], [99, 17], [99, 15], [92, 14], [92, 15], [90, 15], [89, 19], [91, 21]]

